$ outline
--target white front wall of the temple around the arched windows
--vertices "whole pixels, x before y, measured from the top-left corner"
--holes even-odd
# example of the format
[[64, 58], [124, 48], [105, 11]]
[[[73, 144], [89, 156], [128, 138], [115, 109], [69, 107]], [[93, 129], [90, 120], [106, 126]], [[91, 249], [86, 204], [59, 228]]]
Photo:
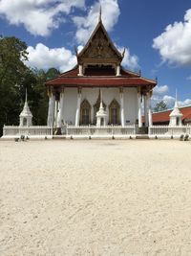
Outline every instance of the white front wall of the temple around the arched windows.
[[[102, 99], [106, 105], [108, 114], [106, 122], [109, 122], [109, 105], [116, 99], [120, 105], [119, 88], [102, 88]], [[135, 124], [138, 119], [138, 90], [137, 88], [124, 88], [124, 120], [125, 125]], [[94, 119], [94, 105], [98, 98], [99, 88], [82, 88], [81, 103], [86, 99], [91, 108], [91, 119]], [[64, 90], [64, 110], [62, 119], [68, 124], [74, 125], [77, 105], [77, 88], [65, 88]]]

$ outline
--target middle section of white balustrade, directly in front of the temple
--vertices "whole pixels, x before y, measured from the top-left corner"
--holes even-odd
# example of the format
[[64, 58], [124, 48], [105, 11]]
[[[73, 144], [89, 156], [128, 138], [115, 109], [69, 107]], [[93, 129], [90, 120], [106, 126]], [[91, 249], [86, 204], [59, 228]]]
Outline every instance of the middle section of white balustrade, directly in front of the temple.
[[136, 126], [106, 126], [106, 127], [96, 127], [96, 126], [79, 126], [67, 127], [67, 135], [134, 135], [136, 134]]

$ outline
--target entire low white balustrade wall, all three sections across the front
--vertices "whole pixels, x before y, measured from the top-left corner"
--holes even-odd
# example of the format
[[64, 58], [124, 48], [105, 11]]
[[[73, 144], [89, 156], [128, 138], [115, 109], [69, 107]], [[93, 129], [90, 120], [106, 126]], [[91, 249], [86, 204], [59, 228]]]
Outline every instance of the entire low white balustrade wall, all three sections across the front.
[[[137, 127], [136, 125], [129, 125], [125, 127], [121, 126], [106, 126], [97, 128], [96, 126], [66, 126], [63, 128], [65, 134], [62, 136], [70, 137], [72, 135], [77, 136], [130, 136], [136, 137]], [[181, 127], [170, 127], [170, 126], [152, 126], [149, 127], [148, 136], [149, 138], [180, 138], [180, 135], [189, 135], [191, 137], [191, 126], [181, 126]], [[3, 137], [2, 138], [16, 138], [21, 135], [28, 136], [29, 138], [38, 138], [38, 137], [49, 137], [53, 138], [53, 128], [46, 126], [32, 126], [32, 127], [17, 127], [17, 126], [4, 126], [3, 128]], [[139, 135], [139, 134], [138, 134]]]

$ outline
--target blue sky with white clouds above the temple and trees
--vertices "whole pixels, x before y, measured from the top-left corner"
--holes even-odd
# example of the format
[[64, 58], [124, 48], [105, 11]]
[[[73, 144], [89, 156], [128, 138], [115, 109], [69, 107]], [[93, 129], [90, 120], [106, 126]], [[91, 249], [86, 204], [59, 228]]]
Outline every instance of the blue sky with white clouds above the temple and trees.
[[122, 65], [158, 78], [152, 104], [191, 105], [191, 1], [189, 0], [0, 0], [0, 35], [28, 45], [33, 68], [74, 67], [78, 51], [98, 21], [126, 54]]

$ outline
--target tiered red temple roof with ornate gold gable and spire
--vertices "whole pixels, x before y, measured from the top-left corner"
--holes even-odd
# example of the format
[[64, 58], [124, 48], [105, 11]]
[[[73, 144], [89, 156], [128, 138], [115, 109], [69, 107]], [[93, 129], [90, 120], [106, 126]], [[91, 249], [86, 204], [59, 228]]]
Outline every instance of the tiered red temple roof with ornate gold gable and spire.
[[[47, 81], [46, 85], [56, 87], [138, 87], [141, 91], [150, 91], [157, 81], [147, 80], [134, 72], [120, 68], [116, 76], [114, 67], [120, 65], [125, 51], [120, 53], [107, 34], [99, 15], [98, 23], [90, 39], [80, 53], [75, 50], [77, 65], [74, 69]], [[78, 76], [78, 66], [83, 69], [83, 76]]]

